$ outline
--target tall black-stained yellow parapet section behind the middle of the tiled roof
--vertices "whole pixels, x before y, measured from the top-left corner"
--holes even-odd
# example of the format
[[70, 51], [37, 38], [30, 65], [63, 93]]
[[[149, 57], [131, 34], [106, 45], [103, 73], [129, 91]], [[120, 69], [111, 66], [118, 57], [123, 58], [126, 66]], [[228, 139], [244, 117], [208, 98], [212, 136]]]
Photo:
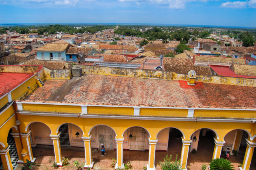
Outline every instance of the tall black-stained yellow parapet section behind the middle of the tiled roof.
[[117, 67], [95, 67], [81, 65], [84, 74], [113, 75], [136, 78], [171, 80], [172, 72], [160, 70], [127, 69]]

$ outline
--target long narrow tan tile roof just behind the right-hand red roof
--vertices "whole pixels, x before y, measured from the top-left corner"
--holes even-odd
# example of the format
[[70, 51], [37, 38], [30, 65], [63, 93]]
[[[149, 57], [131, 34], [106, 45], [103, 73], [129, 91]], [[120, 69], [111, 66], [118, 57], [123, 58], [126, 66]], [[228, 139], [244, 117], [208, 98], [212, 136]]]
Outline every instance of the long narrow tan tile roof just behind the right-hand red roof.
[[244, 58], [229, 58], [229, 57], [214, 57], [214, 56], [194, 56], [195, 61], [210, 61], [210, 62], [223, 62], [223, 63], [235, 63], [246, 64]]

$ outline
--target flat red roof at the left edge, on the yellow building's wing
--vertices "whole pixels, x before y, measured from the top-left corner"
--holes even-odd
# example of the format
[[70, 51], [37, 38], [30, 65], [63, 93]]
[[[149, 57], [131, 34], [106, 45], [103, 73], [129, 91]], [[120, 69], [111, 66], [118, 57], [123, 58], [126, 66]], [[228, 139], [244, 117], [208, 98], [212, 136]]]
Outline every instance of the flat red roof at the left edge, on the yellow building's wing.
[[28, 80], [34, 73], [0, 73], [0, 97]]

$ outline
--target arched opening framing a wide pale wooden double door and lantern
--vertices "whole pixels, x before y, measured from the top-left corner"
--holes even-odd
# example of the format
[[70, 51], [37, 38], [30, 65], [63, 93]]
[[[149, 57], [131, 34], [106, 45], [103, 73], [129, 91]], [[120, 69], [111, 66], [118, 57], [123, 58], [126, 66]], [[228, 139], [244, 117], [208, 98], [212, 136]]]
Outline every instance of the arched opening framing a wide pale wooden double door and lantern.
[[[130, 127], [123, 133], [123, 162], [130, 162], [133, 169], [141, 169], [148, 164], [150, 134], [143, 127]], [[140, 164], [135, 164], [140, 161]]]

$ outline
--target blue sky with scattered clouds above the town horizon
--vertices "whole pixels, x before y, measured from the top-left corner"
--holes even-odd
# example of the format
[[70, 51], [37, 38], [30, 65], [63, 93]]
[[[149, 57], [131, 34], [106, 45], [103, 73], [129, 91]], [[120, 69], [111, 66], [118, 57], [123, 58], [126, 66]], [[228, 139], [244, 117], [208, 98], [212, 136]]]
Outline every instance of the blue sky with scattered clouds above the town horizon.
[[0, 0], [6, 23], [151, 23], [256, 27], [256, 0]]

